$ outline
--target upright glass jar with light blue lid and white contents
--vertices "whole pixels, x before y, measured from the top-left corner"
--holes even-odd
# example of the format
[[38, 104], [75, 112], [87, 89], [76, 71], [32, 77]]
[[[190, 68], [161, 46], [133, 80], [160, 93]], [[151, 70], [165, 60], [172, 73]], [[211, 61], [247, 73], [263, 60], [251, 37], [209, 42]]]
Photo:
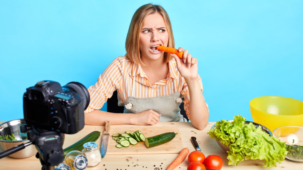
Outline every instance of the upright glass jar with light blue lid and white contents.
[[87, 167], [93, 167], [101, 162], [101, 153], [98, 149], [98, 144], [95, 142], [87, 142], [83, 145], [82, 153], [85, 154], [88, 165]]

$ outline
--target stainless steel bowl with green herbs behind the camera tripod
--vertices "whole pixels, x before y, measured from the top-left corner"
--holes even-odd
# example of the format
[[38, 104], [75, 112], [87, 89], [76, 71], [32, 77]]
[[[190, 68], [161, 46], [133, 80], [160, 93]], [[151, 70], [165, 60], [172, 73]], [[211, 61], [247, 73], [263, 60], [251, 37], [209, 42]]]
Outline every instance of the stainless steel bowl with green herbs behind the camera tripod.
[[[20, 132], [20, 126], [24, 124], [26, 124], [24, 119], [15, 119], [0, 124], [0, 135], [5, 136], [14, 134], [15, 139], [17, 139], [17, 141], [7, 141], [0, 139], [0, 147], [2, 151], [10, 149], [16, 145], [20, 145], [21, 143], [29, 142], [29, 140], [26, 139], [27, 134]], [[35, 145], [29, 145], [25, 149], [22, 149], [8, 156], [12, 158], [27, 158], [35, 155], [36, 153], [37, 150], [35, 148]]]

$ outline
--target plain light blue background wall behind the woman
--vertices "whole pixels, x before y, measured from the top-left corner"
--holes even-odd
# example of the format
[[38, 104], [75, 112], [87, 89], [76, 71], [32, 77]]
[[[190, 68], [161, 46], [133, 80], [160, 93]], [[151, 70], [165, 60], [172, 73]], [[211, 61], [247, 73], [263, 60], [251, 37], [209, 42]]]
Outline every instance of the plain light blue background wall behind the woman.
[[[1, 0], [0, 120], [23, 118], [22, 95], [40, 80], [93, 85], [149, 2]], [[168, 12], [176, 47], [198, 58], [210, 122], [252, 120], [258, 96], [303, 100], [303, 1], [152, 3]]]

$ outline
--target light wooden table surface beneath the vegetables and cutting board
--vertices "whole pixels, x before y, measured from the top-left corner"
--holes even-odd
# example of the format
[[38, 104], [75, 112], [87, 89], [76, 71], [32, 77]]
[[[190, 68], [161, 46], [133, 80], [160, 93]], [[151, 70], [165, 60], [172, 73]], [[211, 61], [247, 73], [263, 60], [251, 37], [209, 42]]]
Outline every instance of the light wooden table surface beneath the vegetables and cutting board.
[[[3, 123], [4, 121], [0, 121]], [[188, 148], [190, 152], [195, 151], [194, 146], [191, 143], [191, 137], [195, 136], [197, 138], [197, 142], [204, 153], [205, 157], [208, 155], [218, 155], [223, 160], [223, 168], [225, 169], [268, 169], [263, 167], [263, 161], [261, 160], [245, 160], [240, 162], [238, 166], [228, 165], [228, 154], [223, 151], [215, 139], [212, 139], [208, 136], [207, 132], [214, 125], [214, 122], [209, 122], [208, 126], [204, 130], [196, 129], [190, 122], [159, 122], [154, 126], [163, 127], [163, 126], [178, 126], [182, 138], [182, 142], [184, 147]], [[122, 125], [112, 125], [113, 126], [122, 126]], [[135, 127], [135, 125], [123, 125], [126, 127]], [[142, 126], [138, 126], [142, 127]], [[104, 126], [89, 126], [85, 125], [85, 127], [78, 133], [74, 135], [65, 135], [65, 141], [63, 148], [72, 145], [78, 140], [82, 139], [88, 133], [98, 130], [100, 132], [104, 131]], [[125, 129], [127, 130], [127, 129]], [[112, 134], [112, 133], [110, 133]], [[96, 141], [98, 145], [101, 145], [102, 134], [100, 138]], [[99, 148], [100, 149], [100, 148]], [[0, 152], [2, 150], [0, 149]], [[156, 167], [166, 169], [168, 165], [178, 156], [178, 154], [143, 154], [143, 155], [105, 155], [105, 157], [101, 160], [101, 162], [92, 168], [86, 168], [87, 170], [154, 170]], [[129, 162], [126, 160], [129, 159]], [[163, 164], [162, 164], [163, 163]], [[136, 166], [135, 166], [136, 165]], [[186, 170], [188, 165], [187, 159], [182, 162], [175, 170]], [[143, 168], [144, 166], [144, 168]], [[277, 167], [273, 167], [272, 169], [303, 169], [303, 163], [301, 162], [293, 162], [288, 159], [285, 159], [281, 164], [277, 164]], [[33, 169], [41, 169], [41, 164], [39, 160], [34, 156], [25, 159], [14, 159], [11, 157], [5, 157], [0, 159], [0, 169], [22, 169], [22, 170], [33, 170]]]

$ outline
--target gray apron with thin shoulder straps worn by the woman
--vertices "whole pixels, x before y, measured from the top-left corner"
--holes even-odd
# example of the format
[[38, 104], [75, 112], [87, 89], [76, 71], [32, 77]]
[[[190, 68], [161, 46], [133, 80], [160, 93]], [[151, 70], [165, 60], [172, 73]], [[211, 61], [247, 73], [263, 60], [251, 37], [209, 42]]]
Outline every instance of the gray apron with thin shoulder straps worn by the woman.
[[146, 110], [154, 110], [160, 113], [158, 122], [187, 122], [180, 113], [180, 104], [182, 103], [182, 95], [177, 91], [176, 80], [173, 80], [174, 92], [166, 96], [157, 97], [133, 97], [135, 88], [135, 77], [132, 81], [131, 96], [124, 102], [124, 113], [141, 113]]

